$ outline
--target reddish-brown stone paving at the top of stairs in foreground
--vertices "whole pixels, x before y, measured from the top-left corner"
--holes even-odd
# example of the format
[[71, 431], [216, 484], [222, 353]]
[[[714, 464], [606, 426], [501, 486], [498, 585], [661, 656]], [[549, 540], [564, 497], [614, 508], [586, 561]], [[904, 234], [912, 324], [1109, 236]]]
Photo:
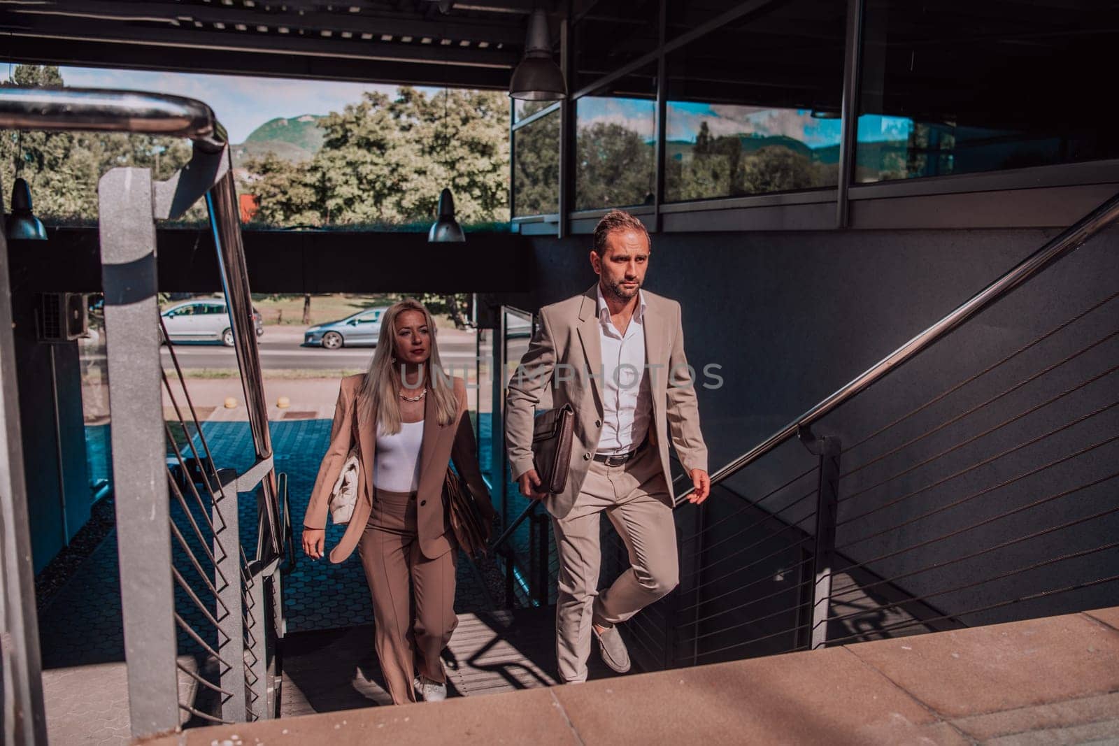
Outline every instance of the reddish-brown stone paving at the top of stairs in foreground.
[[144, 743], [1113, 744], [1119, 607]]

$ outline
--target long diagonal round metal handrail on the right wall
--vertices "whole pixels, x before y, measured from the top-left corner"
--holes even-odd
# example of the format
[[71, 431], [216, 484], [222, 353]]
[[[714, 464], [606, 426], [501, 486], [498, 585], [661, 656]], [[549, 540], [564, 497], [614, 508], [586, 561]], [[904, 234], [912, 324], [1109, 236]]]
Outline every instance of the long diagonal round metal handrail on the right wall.
[[[1116, 195], [1074, 223], [1072, 226], [1061, 232], [1060, 235], [1052, 238], [1044, 246], [1008, 270], [995, 282], [990, 283], [970, 299], [961, 303], [940, 321], [920, 332], [896, 350], [884, 357], [882, 360], [867, 368], [863, 374], [857, 376], [846, 386], [841, 387], [810, 408], [808, 412], [767, 437], [750, 451], [746, 451], [722, 469], [715, 471], [715, 473], [711, 475], [712, 485], [717, 484], [726, 478], [735, 474], [741, 469], [758, 461], [789, 438], [796, 437], [799, 432], [810, 427], [812, 423], [817, 422], [839, 405], [852, 399], [856, 394], [880, 380], [886, 374], [897, 368], [903, 362], [910, 360], [919, 352], [928, 349], [933, 342], [941, 339], [952, 329], [974, 317], [988, 304], [1003, 298], [1022, 283], [1036, 275], [1051, 262], [1081, 246], [1085, 240], [1111, 225], [1116, 218], [1119, 218], [1119, 195]], [[690, 488], [676, 495], [676, 506], [679, 506], [684, 500], [686, 500], [693, 491], [694, 488]]]

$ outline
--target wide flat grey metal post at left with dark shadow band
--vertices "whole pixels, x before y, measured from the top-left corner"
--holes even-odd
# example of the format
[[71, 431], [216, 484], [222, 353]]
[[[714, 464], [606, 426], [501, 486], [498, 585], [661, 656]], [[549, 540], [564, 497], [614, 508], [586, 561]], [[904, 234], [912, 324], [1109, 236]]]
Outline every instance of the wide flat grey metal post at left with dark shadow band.
[[151, 172], [117, 168], [97, 187], [113, 488], [132, 735], [179, 727], [175, 594], [160, 391]]

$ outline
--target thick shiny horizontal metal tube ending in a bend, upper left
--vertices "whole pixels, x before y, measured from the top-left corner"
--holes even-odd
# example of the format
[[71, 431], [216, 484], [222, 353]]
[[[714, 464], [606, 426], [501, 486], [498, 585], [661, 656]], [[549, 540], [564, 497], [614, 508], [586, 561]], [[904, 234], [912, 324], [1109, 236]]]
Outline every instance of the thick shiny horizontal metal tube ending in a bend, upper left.
[[220, 151], [229, 141], [214, 110], [200, 101], [105, 88], [0, 86], [0, 128], [187, 138], [208, 152]]

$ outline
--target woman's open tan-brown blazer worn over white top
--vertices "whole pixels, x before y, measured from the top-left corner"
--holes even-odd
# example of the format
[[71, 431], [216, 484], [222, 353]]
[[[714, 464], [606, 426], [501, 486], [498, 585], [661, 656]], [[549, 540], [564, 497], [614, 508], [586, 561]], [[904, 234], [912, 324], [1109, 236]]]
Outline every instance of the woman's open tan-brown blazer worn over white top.
[[[358, 484], [357, 504], [354, 516], [346, 526], [341, 540], [330, 550], [330, 561], [341, 563], [354, 551], [361, 539], [365, 525], [373, 510], [373, 469], [376, 462], [377, 438], [373, 413], [368, 423], [358, 424], [357, 405], [360, 400], [364, 374], [342, 378], [335, 405], [335, 422], [330, 428], [330, 445], [319, 465], [319, 475], [311, 490], [311, 499], [303, 516], [305, 528], [321, 529], [327, 526], [330, 489], [346, 462], [346, 455], [355, 442], [360, 444], [361, 481]], [[420, 446], [420, 483], [416, 489], [416, 533], [420, 551], [427, 559], [435, 559], [450, 551], [454, 535], [443, 510], [443, 480], [446, 465], [454, 463], [455, 470], [466, 480], [474, 500], [487, 518], [493, 517], [489, 491], [478, 468], [478, 452], [474, 429], [467, 416], [467, 386], [454, 378], [454, 395], [459, 399], [459, 414], [451, 424], [439, 422], [431, 396], [424, 397], [423, 440]], [[357, 431], [357, 432], [355, 432]]]

